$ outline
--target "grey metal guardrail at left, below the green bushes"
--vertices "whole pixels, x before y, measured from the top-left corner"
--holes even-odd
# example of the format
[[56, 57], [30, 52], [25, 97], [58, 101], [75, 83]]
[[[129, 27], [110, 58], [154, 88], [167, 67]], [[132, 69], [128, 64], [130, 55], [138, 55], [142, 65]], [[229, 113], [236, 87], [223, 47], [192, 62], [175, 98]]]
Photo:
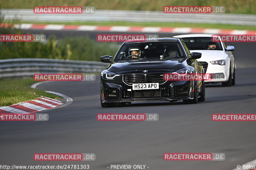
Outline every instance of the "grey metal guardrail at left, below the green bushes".
[[47, 58], [14, 58], [0, 60], [0, 78], [33, 76], [35, 73], [96, 73], [108, 63], [97, 61]]

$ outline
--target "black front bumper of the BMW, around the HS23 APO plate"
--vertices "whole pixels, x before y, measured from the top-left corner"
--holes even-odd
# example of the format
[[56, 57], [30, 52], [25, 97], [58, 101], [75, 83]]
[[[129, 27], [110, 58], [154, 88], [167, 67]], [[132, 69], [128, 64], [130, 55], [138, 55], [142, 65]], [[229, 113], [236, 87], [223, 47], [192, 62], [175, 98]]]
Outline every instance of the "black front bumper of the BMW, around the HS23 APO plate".
[[193, 99], [193, 81], [166, 81], [156, 90], [132, 90], [122, 77], [107, 80], [101, 77], [100, 93], [103, 103], [142, 102], [142, 101], [177, 101]]

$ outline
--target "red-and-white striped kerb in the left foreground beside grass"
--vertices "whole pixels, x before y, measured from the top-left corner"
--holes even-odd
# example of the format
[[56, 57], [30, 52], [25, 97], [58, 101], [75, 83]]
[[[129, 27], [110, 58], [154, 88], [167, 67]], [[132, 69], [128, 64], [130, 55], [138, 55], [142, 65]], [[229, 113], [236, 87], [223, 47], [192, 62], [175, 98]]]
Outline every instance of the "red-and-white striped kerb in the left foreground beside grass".
[[13, 104], [11, 106], [0, 107], [0, 113], [28, 114], [54, 108], [62, 104], [63, 103], [59, 100], [41, 96], [35, 100], [24, 101], [17, 104]]

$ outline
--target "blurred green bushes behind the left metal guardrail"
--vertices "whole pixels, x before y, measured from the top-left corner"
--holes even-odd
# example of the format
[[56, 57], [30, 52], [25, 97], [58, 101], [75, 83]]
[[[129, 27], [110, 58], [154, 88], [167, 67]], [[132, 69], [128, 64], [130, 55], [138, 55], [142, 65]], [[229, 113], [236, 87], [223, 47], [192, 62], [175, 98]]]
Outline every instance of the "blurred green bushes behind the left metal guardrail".
[[[0, 24], [4, 18], [0, 15]], [[1, 34], [20, 34], [13, 28], [18, 21], [11, 21], [8, 27], [0, 27]], [[0, 59], [9, 58], [53, 58], [66, 60], [100, 61], [102, 55], [115, 55], [118, 49], [116, 43], [96, 42], [88, 36], [47, 38], [46, 42], [0, 42]]]

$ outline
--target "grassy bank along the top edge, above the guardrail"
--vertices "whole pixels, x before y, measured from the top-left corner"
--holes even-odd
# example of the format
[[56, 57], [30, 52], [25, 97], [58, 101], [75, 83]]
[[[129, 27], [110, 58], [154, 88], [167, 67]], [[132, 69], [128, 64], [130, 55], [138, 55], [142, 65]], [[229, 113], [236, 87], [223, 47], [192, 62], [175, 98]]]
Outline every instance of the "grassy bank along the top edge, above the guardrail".
[[[226, 13], [256, 14], [256, 0], [0, 0], [0, 8], [95, 6], [104, 10], [162, 11], [163, 6], [225, 6]], [[96, 11], [97, 12], [97, 11]]]

